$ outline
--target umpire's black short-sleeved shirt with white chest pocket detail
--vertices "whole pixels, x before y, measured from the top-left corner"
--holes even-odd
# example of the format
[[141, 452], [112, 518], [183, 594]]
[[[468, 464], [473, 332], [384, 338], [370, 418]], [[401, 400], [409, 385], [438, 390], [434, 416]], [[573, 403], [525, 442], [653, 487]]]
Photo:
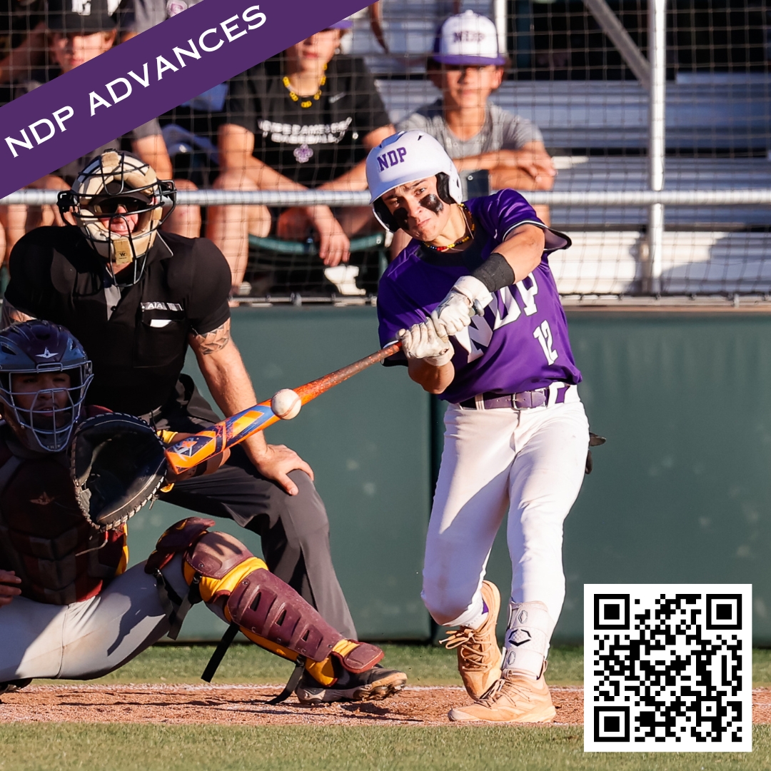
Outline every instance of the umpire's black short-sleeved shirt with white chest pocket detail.
[[11, 254], [5, 297], [69, 329], [93, 362], [89, 404], [144, 415], [175, 397], [190, 333], [230, 318], [231, 271], [206, 238], [156, 237], [143, 276], [107, 318], [104, 262], [79, 228], [38, 227]]

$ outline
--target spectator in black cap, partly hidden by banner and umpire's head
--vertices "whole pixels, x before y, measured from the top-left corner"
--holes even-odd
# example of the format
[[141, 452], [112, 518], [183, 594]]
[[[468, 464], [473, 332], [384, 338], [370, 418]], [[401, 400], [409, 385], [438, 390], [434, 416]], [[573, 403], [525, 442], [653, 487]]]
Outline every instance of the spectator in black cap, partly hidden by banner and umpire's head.
[[[49, 33], [49, 53], [52, 62], [56, 62], [58, 70], [50, 74], [41, 72], [42, 80], [52, 79], [59, 74], [69, 72], [77, 66], [94, 59], [96, 56], [109, 51], [116, 39], [116, 22], [109, 13], [108, 0], [90, 0], [89, 4], [82, 6], [88, 12], [74, 11], [73, 6], [79, 0], [49, 0], [48, 17], [46, 25]], [[80, 7], [80, 5], [79, 5]], [[40, 80], [30, 80], [20, 84], [20, 89], [32, 90], [41, 85]], [[17, 93], [18, 96], [18, 93]], [[169, 153], [163, 143], [163, 136], [157, 120], [151, 120], [137, 127], [123, 140], [130, 143], [133, 150], [141, 160], [149, 163], [157, 170], [160, 179], [171, 179], [172, 168]], [[122, 138], [113, 140], [88, 153], [88, 155], [72, 160], [65, 166], [47, 174], [33, 182], [29, 187], [39, 190], [69, 190], [70, 185], [77, 177], [79, 171], [88, 165], [105, 150], [122, 149]], [[123, 148], [125, 149], [125, 148]], [[177, 189], [195, 189], [187, 180], [175, 180]], [[6, 247], [10, 253], [12, 247], [19, 241], [25, 232], [38, 227], [41, 224], [64, 224], [59, 211], [55, 206], [6, 207]], [[200, 234], [200, 210], [198, 207], [177, 207], [164, 224], [164, 229], [174, 233], [197, 237]]]

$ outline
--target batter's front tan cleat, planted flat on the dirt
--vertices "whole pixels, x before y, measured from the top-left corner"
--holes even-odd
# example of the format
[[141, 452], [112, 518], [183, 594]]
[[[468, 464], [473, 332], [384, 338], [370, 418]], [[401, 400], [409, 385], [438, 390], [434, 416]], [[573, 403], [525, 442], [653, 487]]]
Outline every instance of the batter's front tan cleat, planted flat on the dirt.
[[451, 709], [447, 717], [455, 722], [550, 722], [555, 715], [543, 675], [530, 680], [507, 672], [478, 703]]

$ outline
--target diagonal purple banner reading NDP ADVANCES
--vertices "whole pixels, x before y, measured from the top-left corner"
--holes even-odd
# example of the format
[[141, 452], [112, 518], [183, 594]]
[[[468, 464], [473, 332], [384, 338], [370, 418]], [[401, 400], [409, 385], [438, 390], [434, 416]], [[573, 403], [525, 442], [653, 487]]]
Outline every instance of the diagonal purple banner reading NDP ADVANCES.
[[0, 197], [363, 8], [207, 0], [0, 108]]

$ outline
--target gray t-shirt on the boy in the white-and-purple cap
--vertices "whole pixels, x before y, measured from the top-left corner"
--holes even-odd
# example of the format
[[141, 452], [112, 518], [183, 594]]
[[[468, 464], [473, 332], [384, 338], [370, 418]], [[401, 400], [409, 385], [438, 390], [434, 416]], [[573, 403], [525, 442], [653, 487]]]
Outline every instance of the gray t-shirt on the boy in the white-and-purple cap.
[[493, 153], [495, 150], [519, 150], [528, 142], [544, 141], [535, 123], [507, 113], [497, 104], [491, 103], [487, 103], [483, 129], [469, 140], [460, 140], [449, 130], [444, 120], [442, 99], [436, 99], [433, 104], [424, 104], [396, 124], [397, 131], [415, 129], [425, 131], [439, 140], [451, 158], [466, 158]]

